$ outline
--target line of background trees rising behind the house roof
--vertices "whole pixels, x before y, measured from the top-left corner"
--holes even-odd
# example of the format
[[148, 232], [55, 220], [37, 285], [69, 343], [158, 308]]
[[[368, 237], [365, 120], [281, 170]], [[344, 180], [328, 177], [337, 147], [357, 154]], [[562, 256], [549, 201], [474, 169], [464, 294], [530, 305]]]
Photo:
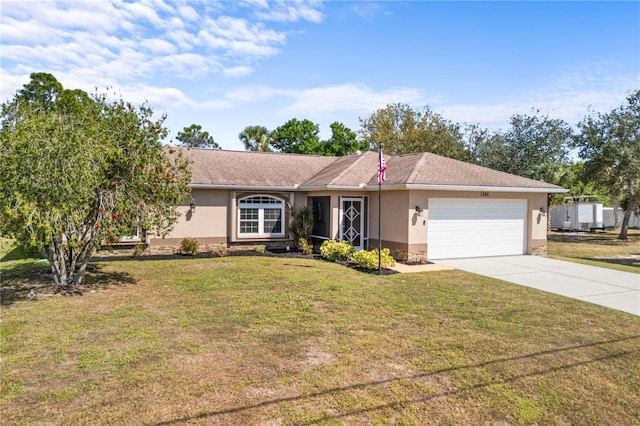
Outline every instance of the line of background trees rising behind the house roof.
[[640, 214], [640, 90], [608, 113], [588, 111], [575, 127], [532, 110], [511, 116], [506, 129], [490, 130], [454, 123], [428, 106], [398, 103], [361, 118], [358, 133], [334, 122], [328, 140], [318, 134], [317, 124], [294, 118], [273, 131], [248, 126], [239, 138], [249, 151], [342, 156], [381, 146], [390, 155], [432, 152], [543, 180], [569, 189], [556, 196], [556, 203], [589, 195], [621, 206], [621, 238], [631, 213]]

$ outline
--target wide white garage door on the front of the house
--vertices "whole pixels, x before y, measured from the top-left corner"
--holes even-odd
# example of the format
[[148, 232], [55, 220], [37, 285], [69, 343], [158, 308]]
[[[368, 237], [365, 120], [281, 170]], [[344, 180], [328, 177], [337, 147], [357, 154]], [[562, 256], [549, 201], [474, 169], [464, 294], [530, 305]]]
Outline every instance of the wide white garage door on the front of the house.
[[525, 253], [526, 200], [429, 199], [428, 258]]

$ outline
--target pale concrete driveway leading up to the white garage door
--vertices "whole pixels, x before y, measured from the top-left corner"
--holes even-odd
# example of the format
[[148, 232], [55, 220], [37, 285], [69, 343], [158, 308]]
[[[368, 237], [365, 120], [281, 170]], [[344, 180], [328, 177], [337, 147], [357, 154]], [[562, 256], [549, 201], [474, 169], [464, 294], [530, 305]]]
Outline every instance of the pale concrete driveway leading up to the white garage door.
[[540, 256], [447, 259], [436, 263], [640, 316], [640, 274]]

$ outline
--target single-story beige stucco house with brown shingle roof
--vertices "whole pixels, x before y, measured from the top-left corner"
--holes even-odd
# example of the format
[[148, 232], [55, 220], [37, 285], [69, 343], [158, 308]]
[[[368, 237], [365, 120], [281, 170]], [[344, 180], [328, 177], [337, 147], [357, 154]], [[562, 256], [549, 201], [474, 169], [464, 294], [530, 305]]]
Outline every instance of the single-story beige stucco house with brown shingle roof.
[[[562, 187], [422, 152], [346, 157], [185, 149], [192, 200], [152, 251], [185, 237], [203, 246], [292, 245], [291, 207], [311, 206], [313, 237], [374, 249], [397, 260], [544, 254], [549, 194]], [[380, 212], [380, 215], [378, 214]], [[380, 230], [378, 220], [380, 219]], [[379, 232], [380, 231], [380, 232]]]

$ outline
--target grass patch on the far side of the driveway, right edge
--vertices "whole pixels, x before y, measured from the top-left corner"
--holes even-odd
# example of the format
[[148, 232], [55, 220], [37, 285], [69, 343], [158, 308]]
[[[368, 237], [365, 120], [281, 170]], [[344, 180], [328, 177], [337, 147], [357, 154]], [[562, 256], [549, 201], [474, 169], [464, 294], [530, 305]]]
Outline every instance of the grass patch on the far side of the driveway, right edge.
[[640, 274], [640, 230], [630, 229], [626, 240], [619, 231], [595, 233], [552, 232], [548, 256], [586, 265]]

